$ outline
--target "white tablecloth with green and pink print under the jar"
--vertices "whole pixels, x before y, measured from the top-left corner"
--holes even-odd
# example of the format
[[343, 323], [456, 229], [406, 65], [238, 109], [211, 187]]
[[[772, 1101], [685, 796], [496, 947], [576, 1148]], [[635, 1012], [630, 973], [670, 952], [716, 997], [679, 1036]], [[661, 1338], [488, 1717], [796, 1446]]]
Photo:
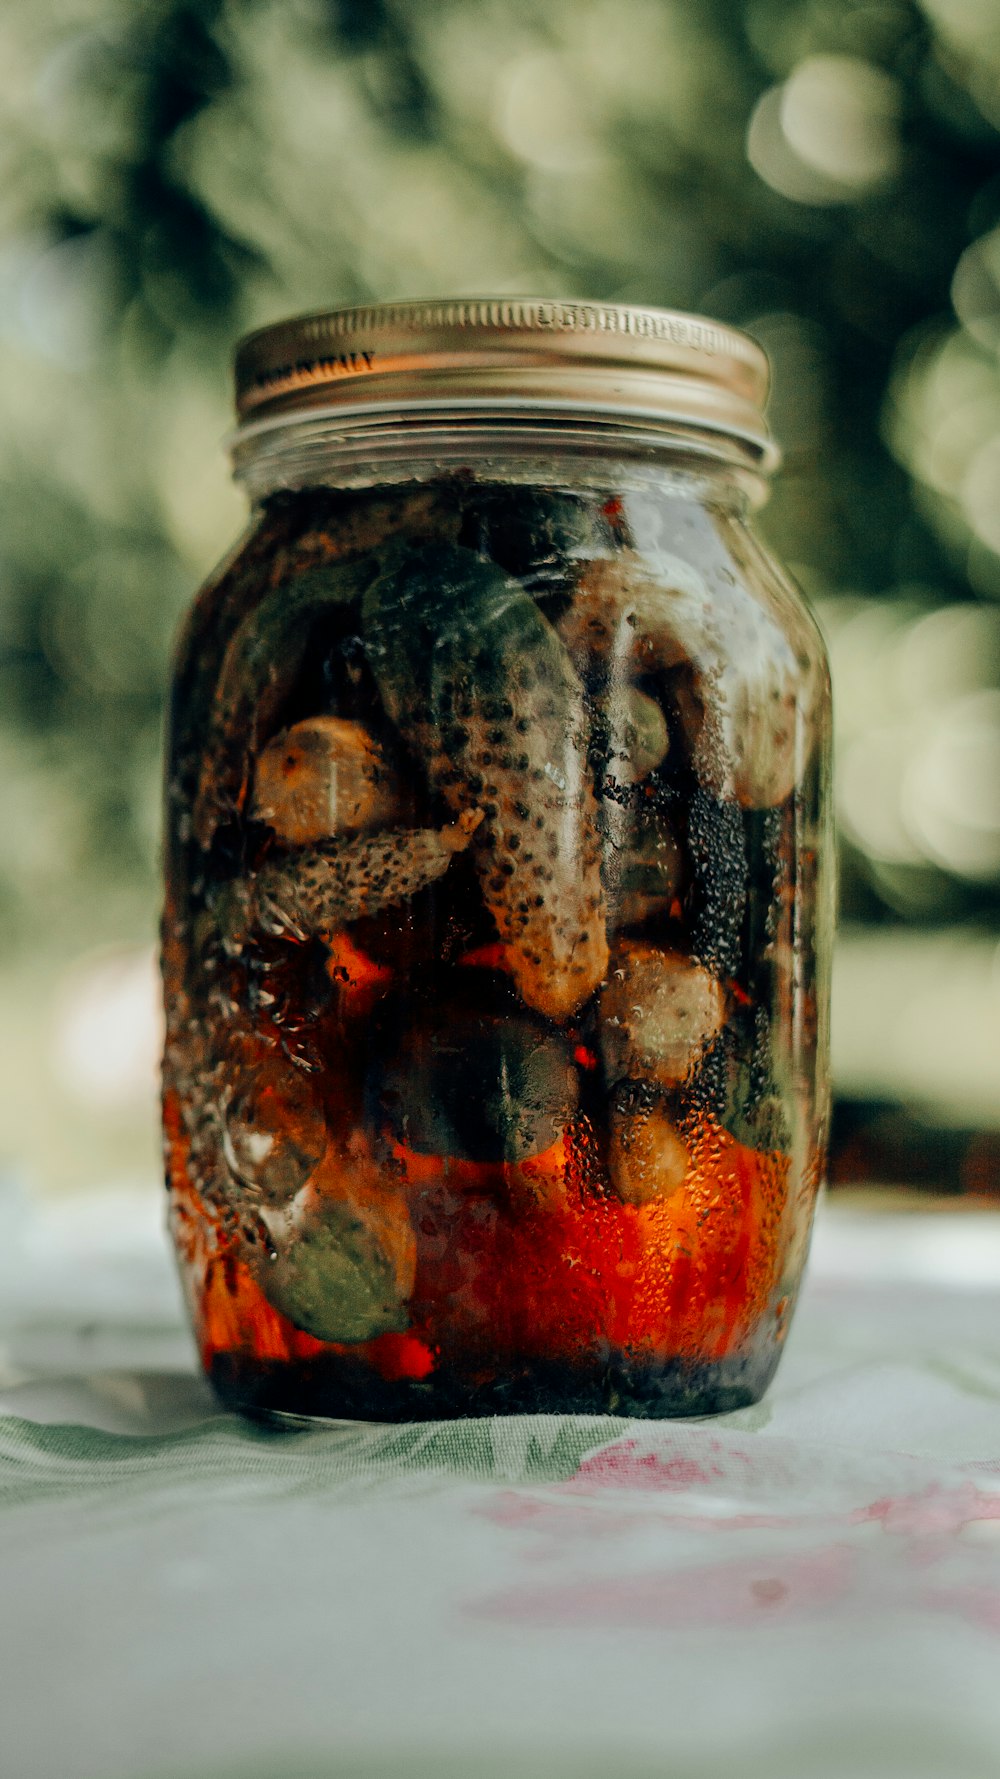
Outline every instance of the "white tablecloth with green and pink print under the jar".
[[714, 1421], [269, 1436], [153, 1190], [0, 1217], [4, 1779], [1000, 1772], [1000, 1219], [826, 1210]]

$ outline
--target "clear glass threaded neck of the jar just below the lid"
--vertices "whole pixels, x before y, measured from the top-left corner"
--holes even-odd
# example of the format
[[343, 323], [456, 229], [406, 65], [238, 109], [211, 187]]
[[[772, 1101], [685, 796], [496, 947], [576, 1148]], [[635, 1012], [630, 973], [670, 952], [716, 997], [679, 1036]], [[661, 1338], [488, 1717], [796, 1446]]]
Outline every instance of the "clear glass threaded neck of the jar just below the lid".
[[[676, 480], [689, 495], [737, 509], [767, 498], [767, 468], [749, 439], [662, 422], [593, 413], [427, 409], [399, 415], [302, 413], [242, 427], [233, 475], [251, 503], [283, 489], [370, 489], [472, 475], [489, 482], [607, 480], [628, 464], [642, 480]], [[569, 468], [571, 466], [571, 468]]]

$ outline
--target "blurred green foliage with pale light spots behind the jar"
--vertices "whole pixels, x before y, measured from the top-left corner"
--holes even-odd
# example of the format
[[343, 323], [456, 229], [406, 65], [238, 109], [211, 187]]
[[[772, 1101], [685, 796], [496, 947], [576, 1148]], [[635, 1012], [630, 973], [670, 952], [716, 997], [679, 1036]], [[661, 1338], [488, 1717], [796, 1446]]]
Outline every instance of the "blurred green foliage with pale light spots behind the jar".
[[251, 326], [536, 292], [774, 363], [835, 660], [836, 1179], [1000, 1178], [1000, 0], [7, 0], [0, 1171], [155, 1167], [160, 710]]

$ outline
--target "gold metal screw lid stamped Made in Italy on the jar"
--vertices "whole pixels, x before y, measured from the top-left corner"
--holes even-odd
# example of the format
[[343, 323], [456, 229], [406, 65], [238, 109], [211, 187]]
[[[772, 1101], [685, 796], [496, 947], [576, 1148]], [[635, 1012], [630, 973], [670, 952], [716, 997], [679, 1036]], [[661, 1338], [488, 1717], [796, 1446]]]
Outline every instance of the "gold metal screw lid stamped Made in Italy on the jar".
[[301, 315], [237, 347], [240, 427], [301, 411], [525, 409], [721, 432], [763, 466], [765, 352], [678, 310], [482, 297]]

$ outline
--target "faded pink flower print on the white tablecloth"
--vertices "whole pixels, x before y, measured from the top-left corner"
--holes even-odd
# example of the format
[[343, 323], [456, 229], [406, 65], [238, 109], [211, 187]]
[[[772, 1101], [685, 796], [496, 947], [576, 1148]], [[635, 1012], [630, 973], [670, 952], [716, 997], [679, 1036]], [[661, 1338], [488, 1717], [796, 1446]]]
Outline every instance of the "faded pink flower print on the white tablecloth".
[[1000, 1487], [984, 1480], [982, 1462], [943, 1478], [904, 1453], [660, 1427], [480, 1501], [514, 1541], [512, 1576], [464, 1614], [671, 1631], [916, 1612], [1000, 1633]]

